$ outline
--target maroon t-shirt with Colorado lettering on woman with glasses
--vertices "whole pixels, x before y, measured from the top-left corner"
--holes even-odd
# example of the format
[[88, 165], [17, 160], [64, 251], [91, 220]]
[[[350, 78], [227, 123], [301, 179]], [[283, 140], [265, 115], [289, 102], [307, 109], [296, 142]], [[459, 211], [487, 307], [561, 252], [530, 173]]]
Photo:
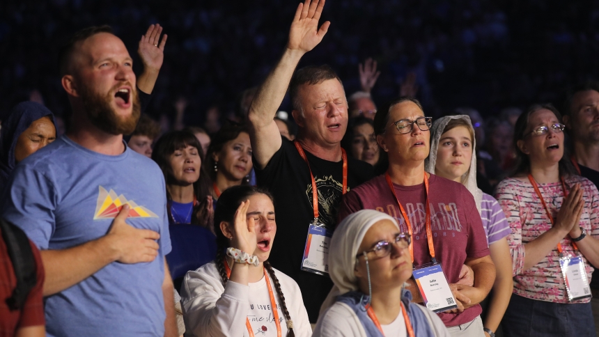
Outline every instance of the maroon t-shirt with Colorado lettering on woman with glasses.
[[[489, 255], [485, 230], [472, 194], [458, 182], [430, 175], [428, 203], [433, 231], [435, 257], [441, 263], [449, 283], [456, 283], [466, 258]], [[430, 262], [426, 239], [426, 189], [424, 183], [414, 186], [394, 185], [395, 193], [412, 224], [414, 266]], [[371, 209], [385, 212], [397, 219], [400, 230], [407, 226], [384, 175], [355, 187], [345, 194], [339, 210], [342, 220], [353, 212]], [[481, 314], [481, 306], [467, 308], [462, 313], [439, 313], [446, 327], [470, 322]]]

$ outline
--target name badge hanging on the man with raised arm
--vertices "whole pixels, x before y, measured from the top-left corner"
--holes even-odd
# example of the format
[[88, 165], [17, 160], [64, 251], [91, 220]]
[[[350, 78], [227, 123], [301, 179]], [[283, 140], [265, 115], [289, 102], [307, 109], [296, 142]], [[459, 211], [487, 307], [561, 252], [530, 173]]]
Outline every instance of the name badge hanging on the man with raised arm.
[[302, 270], [319, 275], [329, 274], [329, 244], [332, 236], [332, 230], [314, 219], [308, 229]]

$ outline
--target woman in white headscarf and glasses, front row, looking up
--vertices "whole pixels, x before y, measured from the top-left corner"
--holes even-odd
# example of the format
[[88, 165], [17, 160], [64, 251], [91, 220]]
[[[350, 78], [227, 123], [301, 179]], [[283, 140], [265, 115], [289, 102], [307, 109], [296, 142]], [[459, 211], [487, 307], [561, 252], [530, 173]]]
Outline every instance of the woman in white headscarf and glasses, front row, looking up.
[[334, 304], [323, 308], [313, 336], [449, 336], [442, 320], [403, 289], [412, 276], [409, 244], [387, 214], [361, 210], [345, 218], [329, 247], [335, 287], [327, 301]]

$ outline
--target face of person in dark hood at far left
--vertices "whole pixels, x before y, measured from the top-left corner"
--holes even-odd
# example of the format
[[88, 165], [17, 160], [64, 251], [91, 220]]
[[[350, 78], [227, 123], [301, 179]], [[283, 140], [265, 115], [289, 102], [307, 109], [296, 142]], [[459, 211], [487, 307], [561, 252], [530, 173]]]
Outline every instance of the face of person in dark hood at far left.
[[56, 128], [48, 117], [34, 120], [19, 136], [15, 146], [15, 164], [56, 140]]

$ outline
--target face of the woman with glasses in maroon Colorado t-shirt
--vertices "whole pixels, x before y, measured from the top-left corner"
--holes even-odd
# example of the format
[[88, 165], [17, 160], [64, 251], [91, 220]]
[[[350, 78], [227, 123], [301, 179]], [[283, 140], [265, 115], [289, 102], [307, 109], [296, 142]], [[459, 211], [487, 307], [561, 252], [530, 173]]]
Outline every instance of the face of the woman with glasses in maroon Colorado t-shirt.
[[391, 107], [387, 129], [384, 134], [377, 136], [379, 146], [389, 154], [390, 163], [410, 161], [423, 163], [424, 159], [428, 157], [430, 131], [422, 131], [416, 123], [413, 123], [412, 132], [400, 134], [394, 125], [399, 120], [408, 120], [409, 122], [420, 117], [424, 117], [424, 112], [414, 102], [404, 101]]

